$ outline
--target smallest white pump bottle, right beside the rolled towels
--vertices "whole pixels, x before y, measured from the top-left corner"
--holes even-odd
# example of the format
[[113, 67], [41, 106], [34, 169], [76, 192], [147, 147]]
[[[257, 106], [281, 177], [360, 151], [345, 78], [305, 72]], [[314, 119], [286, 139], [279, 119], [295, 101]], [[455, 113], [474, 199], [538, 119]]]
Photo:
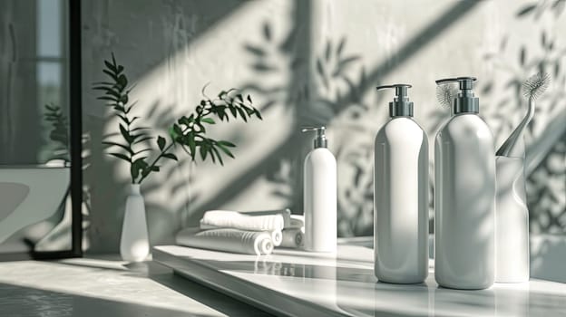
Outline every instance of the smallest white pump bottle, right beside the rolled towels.
[[304, 212], [305, 249], [337, 251], [337, 161], [327, 149], [325, 127], [317, 131], [315, 149], [305, 159]]

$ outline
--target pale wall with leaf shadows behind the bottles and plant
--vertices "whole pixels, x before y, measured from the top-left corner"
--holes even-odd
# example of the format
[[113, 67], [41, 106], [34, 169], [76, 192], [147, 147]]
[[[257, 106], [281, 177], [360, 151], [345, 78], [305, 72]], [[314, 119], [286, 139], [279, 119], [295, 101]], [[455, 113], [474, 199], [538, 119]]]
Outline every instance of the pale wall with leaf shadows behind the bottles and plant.
[[[534, 5], [534, 6], [533, 6]], [[238, 144], [224, 167], [191, 163], [182, 151], [142, 185], [152, 244], [170, 243], [212, 208], [291, 207], [302, 212], [302, 159], [324, 124], [338, 159], [339, 234], [372, 232], [372, 155], [392, 95], [378, 84], [409, 82], [415, 118], [433, 144], [449, 116], [434, 80], [474, 75], [481, 113], [497, 146], [526, 110], [521, 82], [544, 69], [549, 91], [527, 135], [532, 231], [566, 232], [563, 120], [566, 27], [563, 1], [83, 1], [83, 116], [91, 207], [90, 252], [118, 250], [128, 168], [103, 153], [117, 123], [91, 83], [115, 53], [137, 82], [137, 115], [160, 133], [206, 93], [236, 87], [264, 120], [219, 124], [212, 135]], [[562, 122], [562, 124], [560, 124]], [[432, 151], [431, 151], [432, 152]], [[432, 153], [431, 153], [432, 154]], [[431, 171], [433, 166], [431, 165]], [[432, 192], [432, 187], [431, 187]], [[431, 206], [432, 208], [432, 206]], [[432, 210], [432, 209], [431, 209]]]

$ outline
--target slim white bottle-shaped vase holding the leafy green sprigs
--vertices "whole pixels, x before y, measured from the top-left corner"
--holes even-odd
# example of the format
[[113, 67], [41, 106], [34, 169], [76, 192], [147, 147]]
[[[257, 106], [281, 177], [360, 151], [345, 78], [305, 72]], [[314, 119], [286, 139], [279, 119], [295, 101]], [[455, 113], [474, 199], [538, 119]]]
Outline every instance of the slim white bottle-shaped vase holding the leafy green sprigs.
[[126, 200], [126, 210], [122, 223], [120, 238], [120, 255], [122, 260], [140, 262], [150, 254], [145, 205], [140, 193], [140, 185], [132, 184], [130, 195]]

